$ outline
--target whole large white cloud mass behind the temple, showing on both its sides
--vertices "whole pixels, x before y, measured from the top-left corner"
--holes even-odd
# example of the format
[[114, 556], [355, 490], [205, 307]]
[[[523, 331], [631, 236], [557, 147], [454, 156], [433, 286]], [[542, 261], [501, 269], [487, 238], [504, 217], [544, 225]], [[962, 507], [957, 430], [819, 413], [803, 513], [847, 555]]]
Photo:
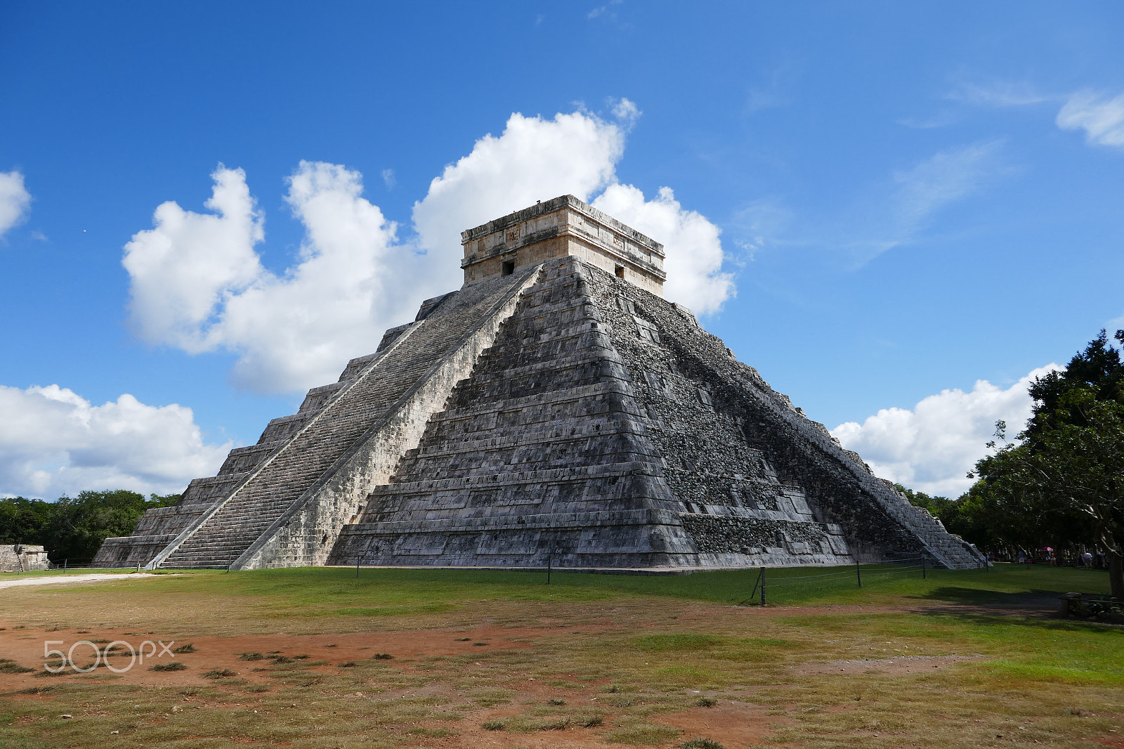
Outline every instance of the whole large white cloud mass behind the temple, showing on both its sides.
[[[347, 359], [370, 353], [387, 327], [413, 319], [422, 299], [459, 288], [461, 232], [560, 195], [595, 205], [664, 243], [668, 298], [714, 312], [733, 283], [722, 273], [718, 227], [685, 210], [669, 188], [653, 200], [619, 184], [616, 164], [640, 110], [622, 99], [617, 121], [583, 111], [507, 120], [444, 169], [414, 204], [415, 237], [362, 197], [362, 175], [301, 162], [285, 198], [305, 227], [283, 273], [261, 263], [264, 218], [242, 170], [219, 166], [206, 207], [169, 201], [153, 228], [125, 246], [130, 319], [153, 344], [238, 355], [243, 388], [283, 392], [333, 381]], [[387, 175], [383, 174], [383, 179]]]

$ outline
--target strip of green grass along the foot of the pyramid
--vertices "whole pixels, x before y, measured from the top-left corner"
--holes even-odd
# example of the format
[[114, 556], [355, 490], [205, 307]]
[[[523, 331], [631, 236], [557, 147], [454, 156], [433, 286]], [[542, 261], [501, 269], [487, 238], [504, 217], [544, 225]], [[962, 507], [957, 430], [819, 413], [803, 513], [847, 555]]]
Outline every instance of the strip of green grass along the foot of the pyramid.
[[[246, 572], [190, 572], [180, 579], [147, 583], [167, 589], [235, 593], [272, 599], [306, 615], [389, 615], [401, 606], [453, 606], [465, 601], [596, 602], [658, 596], [754, 605], [760, 601], [759, 570], [694, 575], [598, 575], [589, 572], [492, 569], [361, 569], [302, 567]], [[765, 572], [769, 604], [860, 604], [901, 597], [931, 601], [992, 601], [1004, 595], [1060, 594], [1071, 589], [1108, 593], [1098, 570], [997, 565], [990, 569], [926, 570], [863, 565], [862, 587], [854, 567], [786, 568]]]

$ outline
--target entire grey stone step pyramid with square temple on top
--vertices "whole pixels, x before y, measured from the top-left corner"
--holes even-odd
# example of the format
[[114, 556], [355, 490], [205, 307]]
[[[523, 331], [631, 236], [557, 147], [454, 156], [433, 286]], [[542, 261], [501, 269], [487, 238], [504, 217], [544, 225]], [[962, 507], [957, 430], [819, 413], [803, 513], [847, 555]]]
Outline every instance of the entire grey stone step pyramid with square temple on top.
[[976, 567], [573, 196], [462, 233], [464, 286], [97, 566]]

